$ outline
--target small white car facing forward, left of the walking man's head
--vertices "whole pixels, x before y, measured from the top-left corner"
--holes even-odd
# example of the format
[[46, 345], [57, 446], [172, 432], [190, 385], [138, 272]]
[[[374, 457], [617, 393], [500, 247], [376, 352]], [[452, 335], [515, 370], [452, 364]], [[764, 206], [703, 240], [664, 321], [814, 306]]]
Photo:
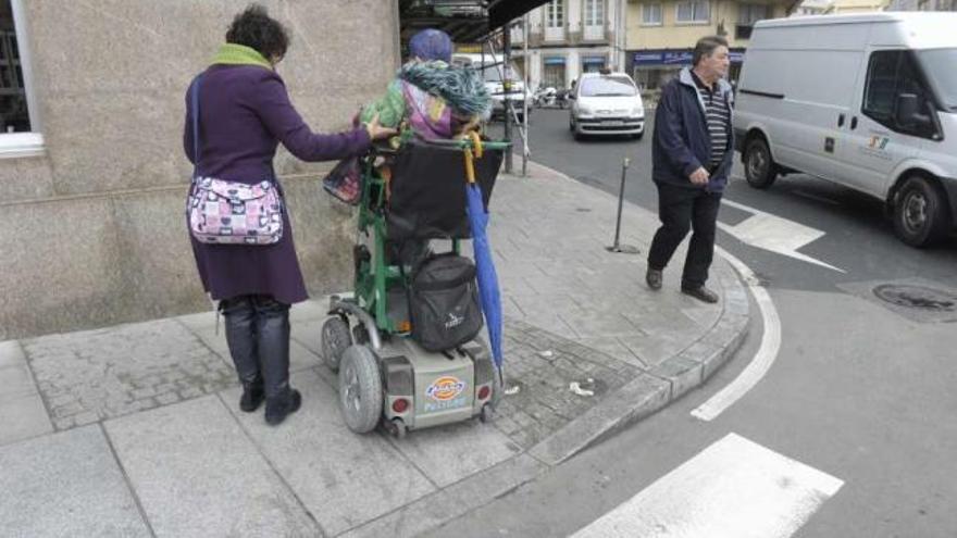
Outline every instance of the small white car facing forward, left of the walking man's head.
[[632, 77], [625, 73], [585, 73], [569, 93], [569, 130], [583, 135], [645, 134], [645, 105]]

